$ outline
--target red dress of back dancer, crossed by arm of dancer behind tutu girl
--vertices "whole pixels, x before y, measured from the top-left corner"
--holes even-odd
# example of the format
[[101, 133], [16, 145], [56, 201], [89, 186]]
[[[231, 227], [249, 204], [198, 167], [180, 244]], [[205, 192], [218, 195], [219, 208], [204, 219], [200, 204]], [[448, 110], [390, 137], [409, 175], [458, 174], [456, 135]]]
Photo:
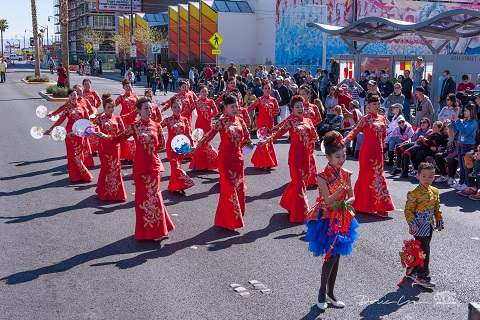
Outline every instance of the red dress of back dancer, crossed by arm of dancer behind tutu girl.
[[[254, 103], [248, 107], [247, 111], [250, 112], [258, 108], [259, 115], [257, 118], [257, 128], [267, 127], [273, 128], [273, 117], [280, 112], [277, 99], [273, 97], [260, 97], [255, 100]], [[276, 167], [278, 166], [277, 155], [273, 148], [273, 143], [268, 142], [266, 145], [256, 147], [252, 156], [252, 163], [257, 168]]]

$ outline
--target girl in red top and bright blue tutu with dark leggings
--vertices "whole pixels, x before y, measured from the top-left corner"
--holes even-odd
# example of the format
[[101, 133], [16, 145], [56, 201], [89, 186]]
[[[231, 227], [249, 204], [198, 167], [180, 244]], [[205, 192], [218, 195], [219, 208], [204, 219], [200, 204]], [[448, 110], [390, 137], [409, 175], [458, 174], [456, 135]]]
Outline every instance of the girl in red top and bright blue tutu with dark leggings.
[[307, 215], [305, 238], [314, 256], [325, 255], [317, 302], [317, 306], [325, 310], [328, 302], [337, 308], [345, 307], [345, 303], [335, 298], [333, 288], [340, 256], [350, 255], [353, 242], [358, 238], [358, 222], [353, 218], [353, 210], [334, 209], [342, 200], [346, 202], [344, 205], [354, 200], [352, 173], [342, 168], [346, 150], [342, 135], [330, 131], [324, 136], [323, 144], [328, 164], [317, 174], [319, 195], [317, 204]]

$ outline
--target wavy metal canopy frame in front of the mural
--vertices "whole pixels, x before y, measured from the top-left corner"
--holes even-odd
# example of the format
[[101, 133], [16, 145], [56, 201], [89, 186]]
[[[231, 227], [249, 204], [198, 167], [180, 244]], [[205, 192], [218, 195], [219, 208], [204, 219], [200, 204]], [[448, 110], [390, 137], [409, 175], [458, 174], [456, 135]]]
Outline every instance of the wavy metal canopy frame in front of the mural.
[[[405, 33], [418, 35], [433, 54], [439, 54], [452, 40], [480, 35], [480, 12], [449, 10], [419, 23], [367, 17], [345, 27], [311, 22], [307, 23], [307, 27], [340, 37], [354, 54], [362, 53], [371, 42], [391, 40]], [[426, 37], [445, 41], [434, 47]], [[363, 45], [358, 47], [356, 42], [363, 42]]]

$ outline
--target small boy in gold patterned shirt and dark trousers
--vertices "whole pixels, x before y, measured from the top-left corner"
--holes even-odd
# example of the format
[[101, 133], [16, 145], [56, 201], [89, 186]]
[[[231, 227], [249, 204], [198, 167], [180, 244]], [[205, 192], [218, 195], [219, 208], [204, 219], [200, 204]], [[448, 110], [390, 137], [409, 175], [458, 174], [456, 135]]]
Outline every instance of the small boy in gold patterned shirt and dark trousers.
[[432, 187], [435, 179], [435, 168], [433, 164], [422, 162], [418, 166], [416, 175], [420, 184], [407, 193], [407, 203], [405, 204], [405, 218], [409, 226], [409, 233], [421, 242], [426, 257], [423, 261], [423, 267], [416, 266], [410, 278], [417, 284], [430, 288], [435, 283], [430, 280], [430, 271], [428, 263], [430, 262], [430, 241], [435, 229], [443, 229], [443, 217], [440, 211], [440, 197], [438, 189]]

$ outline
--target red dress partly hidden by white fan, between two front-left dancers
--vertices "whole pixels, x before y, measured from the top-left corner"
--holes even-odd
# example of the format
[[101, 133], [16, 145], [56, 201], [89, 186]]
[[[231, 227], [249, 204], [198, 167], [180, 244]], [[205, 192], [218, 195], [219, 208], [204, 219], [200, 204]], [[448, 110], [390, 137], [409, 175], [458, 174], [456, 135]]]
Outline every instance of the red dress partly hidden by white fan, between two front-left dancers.
[[188, 124], [188, 120], [185, 117], [180, 115], [171, 115], [163, 119], [160, 124], [162, 127], [168, 129], [168, 140], [167, 140], [167, 157], [170, 162], [170, 169], [172, 174], [170, 175], [170, 180], [168, 182], [168, 191], [179, 191], [188, 189], [195, 185], [192, 179], [182, 170], [181, 165], [184, 158], [183, 154], [178, 154], [172, 149], [172, 140], [178, 134], [184, 134], [187, 137], [190, 137], [192, 130]]

